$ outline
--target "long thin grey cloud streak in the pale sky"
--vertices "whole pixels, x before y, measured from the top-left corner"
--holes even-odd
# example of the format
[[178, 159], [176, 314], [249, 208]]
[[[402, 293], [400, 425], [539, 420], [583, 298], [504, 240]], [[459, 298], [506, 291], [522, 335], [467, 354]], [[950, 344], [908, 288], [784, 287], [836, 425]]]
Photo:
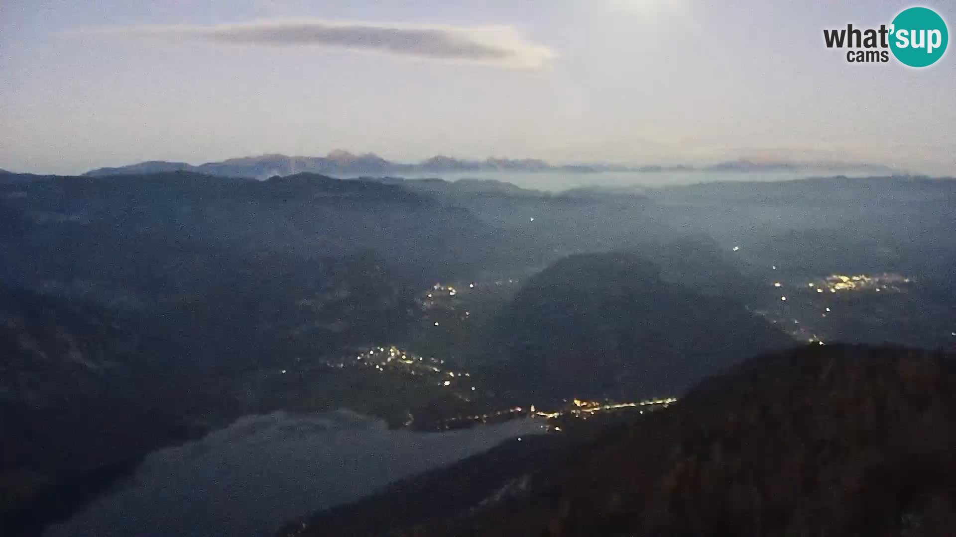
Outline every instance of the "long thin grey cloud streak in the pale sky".
[[239, 24], [98, 28], [82, 33], [230, 45], [320, 46], [517, 68], [541, 67], [554, 57], [550, 49], [528, 41], [509, 26], [467, 28], [273, 19]]

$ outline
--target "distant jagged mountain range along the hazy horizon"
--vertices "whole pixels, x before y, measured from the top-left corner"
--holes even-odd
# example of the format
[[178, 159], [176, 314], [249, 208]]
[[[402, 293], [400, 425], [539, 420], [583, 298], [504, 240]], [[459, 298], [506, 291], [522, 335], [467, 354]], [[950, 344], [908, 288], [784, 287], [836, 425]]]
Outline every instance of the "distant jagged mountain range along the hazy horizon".
[[705, 172], [815, 172], [815, 171], [858, 171], [884, 173], [892, 170], [886, 166], [866, 163], [847, 162], [753, 162], [727, 161], [704, 167], [686, 165], [673, 166], [626, 166], [610, 163], [550, 164], [536, 159], [495, 159], [468, 161], [435, 156], [418, 163], [387, 161], [374, 153], [356, 155], [337, 149], [325, 157], [289, 157], [286, 155], [262, 155], [242, 157], [221, 162], [206, 162], [193, 165], [187, 162], [145, 161], [119, 167], [107, 167], [91, 170], [87, 176], [141, 175], [170, 171], [190, 171], [222, 177], [245, 177], [268, 179], [273, 176], [287, 176], [309, 172], [333, 176], [355, 175], [396, 175], [420, 173], [460, 173], [460, 172], [642, 172], [664, 171], [705, 171]]

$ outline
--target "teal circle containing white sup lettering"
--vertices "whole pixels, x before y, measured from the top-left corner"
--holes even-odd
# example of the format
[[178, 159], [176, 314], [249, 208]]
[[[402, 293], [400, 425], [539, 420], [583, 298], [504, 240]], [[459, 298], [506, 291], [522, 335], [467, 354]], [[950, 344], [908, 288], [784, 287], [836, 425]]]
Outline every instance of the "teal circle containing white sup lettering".
[[893, 19], [890, 50], [904, 65], [926, 67], [936, 63], [946, 52], [949, 31], [936, 11], [909, 8]]

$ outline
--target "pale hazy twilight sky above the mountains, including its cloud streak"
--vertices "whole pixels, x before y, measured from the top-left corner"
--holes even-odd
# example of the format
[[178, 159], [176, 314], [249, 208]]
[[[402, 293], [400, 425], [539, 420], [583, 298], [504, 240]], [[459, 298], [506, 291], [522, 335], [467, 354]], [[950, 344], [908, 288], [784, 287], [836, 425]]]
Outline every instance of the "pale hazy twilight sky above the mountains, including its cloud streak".
[[[0, 167], [335, 148], [956, 175], [956, 55], [847, 63], [908, 2], [0, 0]], [[956, 2], [922, 4], [950, 32]], [[952, 46], [950, 46], [952, 48]]]

